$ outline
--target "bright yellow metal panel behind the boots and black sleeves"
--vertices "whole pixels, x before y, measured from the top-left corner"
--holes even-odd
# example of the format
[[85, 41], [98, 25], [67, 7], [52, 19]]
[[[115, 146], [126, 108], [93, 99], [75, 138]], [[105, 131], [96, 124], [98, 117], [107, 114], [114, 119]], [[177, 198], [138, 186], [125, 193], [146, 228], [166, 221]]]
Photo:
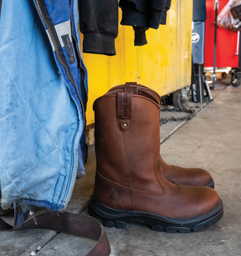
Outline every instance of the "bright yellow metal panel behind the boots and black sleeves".
[[147, 45], [134, 46], [132, 27], [119, 25], [116, 56], [83, 53], [89, 78], [87, 125], [95, 121], [95, 99], [118, 84], [137, 82], [161, 96], [190, 85], [191, 21], [192, 0], [186, 0], [185, 6], [181, 0], [172, 0], [167, 25], [147, 30]]

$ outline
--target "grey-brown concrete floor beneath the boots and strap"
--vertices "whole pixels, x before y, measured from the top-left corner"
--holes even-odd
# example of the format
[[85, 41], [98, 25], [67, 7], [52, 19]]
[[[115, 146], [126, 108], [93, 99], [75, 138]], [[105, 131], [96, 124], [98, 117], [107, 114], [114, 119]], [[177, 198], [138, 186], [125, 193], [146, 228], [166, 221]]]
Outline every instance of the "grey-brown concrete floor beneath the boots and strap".
[[[132, 223], [125, 230], [105, 228], [111, 256], [241, 256], [241, 86], [220, 85], [212, 95], [214, 101], [202, 105], [192, 120], [161, 126], [161, 138], [166, 136], [161, 156], [168, 164], [207, 169], [224, 202], [223, 218], [198, 233], [159, 233]], [[89, 148], [87, 176], [76, 181], [67, 211], [88, 214], [84, 210], [94, 184], [94, 150]], [[12, 223], [13, 213], [4, 219]], [[38, 246], [43, 249], [37, 256], [84, 256], [94, 245], [95, 241], [52, 231], [0, 233], [1, 256], [29, 256]]]

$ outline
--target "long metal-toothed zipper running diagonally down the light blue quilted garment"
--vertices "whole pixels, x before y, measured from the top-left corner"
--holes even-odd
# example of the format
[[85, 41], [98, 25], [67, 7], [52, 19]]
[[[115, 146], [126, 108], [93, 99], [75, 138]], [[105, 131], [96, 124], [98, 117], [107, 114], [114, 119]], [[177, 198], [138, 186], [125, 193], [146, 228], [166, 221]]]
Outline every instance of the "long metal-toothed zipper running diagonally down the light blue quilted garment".
[[[55, 48], [55, 52], [56, 52], [58, 61], [59, 61], [60, 64], [65, 68], [65, 70], [66, 70], [66, 75], [67, 75], [69, 81], [70, 81], [71, 83], [73, 83], [73, 86], [74, 86], [74, 88], [75, 88], [75, 90], [76, 90], [77, 96], [78, 96], [78, 98], [79, 98], [79, 100], [80, 100], [80, 104], [81, 104], [81, 107], [82, 107], [82, 116], [83, 116], [83, 121], [84, 121], [84, 124], [85, 124], [85, 109], [84, 109], [84, 104], [83, 104], [83, 102], [82, 102], [82, 100], [81, 100], [81, 98], [80, 98], [80, 94], [79, 94], [78, 87], [77, 87], [76, 84], [74, 83], [74, 80], [73, 80], [73, 77], [72, 77], [71, 72], [70, 72], [70, 70], [69, 70], [69, 67], [68, 67], [68, 66], [64, 63], [64, 61], [60, 58], [57, 42], [56, 42], [56, 40], [55, 40], [55, 38], [54, 38], [54, 36], [53, 36], [53, 34], [52, 34], [51, 27], [50, 27], [49, 23], [46, 21], [46, 19], [45, 19], [45, 17], [44, 17], [44, 14], [43, 14], [44, 10], [42, 9], [42, 8], [43, 8], [43, 7], [42, 7], [42, 3], [43, 3], [43, 0], [36, 0], [36, 5], [37, 5], [38, 12], [39, 12], [40, 17], [41, 17], [41, 19], [43, 20], [45, 26], [47, 27], [47, 30], [48, 30], [49, 35], [50, 35], [50, 38], [51, 38], [51, 40], [52, 40], [52, 42], [53, 42], [53, 45], [54, 45], [54, 48]], [[57, 40], [58, 40], [58, 38], [57, 38]]]

